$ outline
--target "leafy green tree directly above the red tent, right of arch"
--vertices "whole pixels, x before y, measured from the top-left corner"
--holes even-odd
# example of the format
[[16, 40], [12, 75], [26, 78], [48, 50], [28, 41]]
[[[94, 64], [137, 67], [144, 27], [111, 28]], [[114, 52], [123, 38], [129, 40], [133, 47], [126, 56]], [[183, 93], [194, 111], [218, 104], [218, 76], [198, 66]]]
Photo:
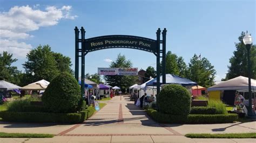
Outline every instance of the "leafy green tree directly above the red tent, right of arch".
[[[212, 75], [212, 79], [209, 78], [210, 75]], [[214, 66], [211, 65], [210, 61], [206, 58], [200, 60], [199, 57], [194, 54], [190, 63], [188, 63], [188, 78], [203, 87], [210, 87], [210, 80], [213, 81], [215, 75], [216, 70]]]

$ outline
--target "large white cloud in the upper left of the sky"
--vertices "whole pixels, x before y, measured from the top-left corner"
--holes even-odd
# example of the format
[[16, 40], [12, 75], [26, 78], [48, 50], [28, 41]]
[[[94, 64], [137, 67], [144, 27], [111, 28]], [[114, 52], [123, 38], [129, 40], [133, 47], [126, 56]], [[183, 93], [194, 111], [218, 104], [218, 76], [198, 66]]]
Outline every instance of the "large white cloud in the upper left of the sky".
[[36, 9], [38, 6], [14, 6], [8, 12], [0, 12], [0, 52], [8, 51], [19, 58], [25, 58], [32, 46], [17, 40], [33, 37], [28, 32], [40, 27], [57, 25], [61, 19], [77, 17], [70, 14], [70, 5], [62, 8], [47, 6], [44, 11]]

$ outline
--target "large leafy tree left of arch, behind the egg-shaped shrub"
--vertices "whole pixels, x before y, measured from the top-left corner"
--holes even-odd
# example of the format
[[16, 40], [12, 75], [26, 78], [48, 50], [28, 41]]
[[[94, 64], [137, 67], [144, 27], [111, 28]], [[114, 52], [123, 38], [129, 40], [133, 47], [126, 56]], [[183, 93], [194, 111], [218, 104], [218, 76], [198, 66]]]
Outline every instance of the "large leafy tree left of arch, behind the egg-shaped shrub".
[[[26, 58], [28, 61], [23, 64], [26, 74], [23, 77], [26, 78], [27, 84], [42, 79], [51, 82], [61, 71], [72, 71], [70, 58], [52, 52], [49, 45], [39, 45], [32, 49]], [[32, 72], [35, 73], [34, 76], [31, 75]]]

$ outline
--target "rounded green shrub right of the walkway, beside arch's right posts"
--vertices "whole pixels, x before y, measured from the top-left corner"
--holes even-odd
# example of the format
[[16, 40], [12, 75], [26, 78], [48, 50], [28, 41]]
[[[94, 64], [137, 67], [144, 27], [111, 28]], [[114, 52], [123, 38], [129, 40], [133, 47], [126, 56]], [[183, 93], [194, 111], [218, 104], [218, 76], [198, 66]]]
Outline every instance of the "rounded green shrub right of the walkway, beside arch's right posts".
[[157, 103], [161, 113], [187, 116], [190, 112], [191, 96], [181, 85], [170, 84], [161, 89]]

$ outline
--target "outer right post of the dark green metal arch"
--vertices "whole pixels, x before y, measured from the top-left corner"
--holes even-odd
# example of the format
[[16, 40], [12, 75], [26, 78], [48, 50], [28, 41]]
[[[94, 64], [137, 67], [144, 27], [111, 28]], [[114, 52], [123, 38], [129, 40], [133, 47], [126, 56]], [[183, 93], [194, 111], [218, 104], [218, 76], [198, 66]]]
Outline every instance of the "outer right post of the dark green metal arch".
[[166, 60], [165, 60], [165, 57], [166, 57], [166, 32], [167, 32], [167, 30], [166, 30], [166, 28], [164, 28], [164, 30], [163, 30], [163, 32], [162, 32], [162, 34], [163, 34], [163, 41], [162, 41], [162, 43], [163, 43], [163, 49], [162, 49], [162, 63], [163, 63], [163, 71], [162, 71], [162, 76], [163, 76], [163, 84], [165, 84], [166, 83]]

